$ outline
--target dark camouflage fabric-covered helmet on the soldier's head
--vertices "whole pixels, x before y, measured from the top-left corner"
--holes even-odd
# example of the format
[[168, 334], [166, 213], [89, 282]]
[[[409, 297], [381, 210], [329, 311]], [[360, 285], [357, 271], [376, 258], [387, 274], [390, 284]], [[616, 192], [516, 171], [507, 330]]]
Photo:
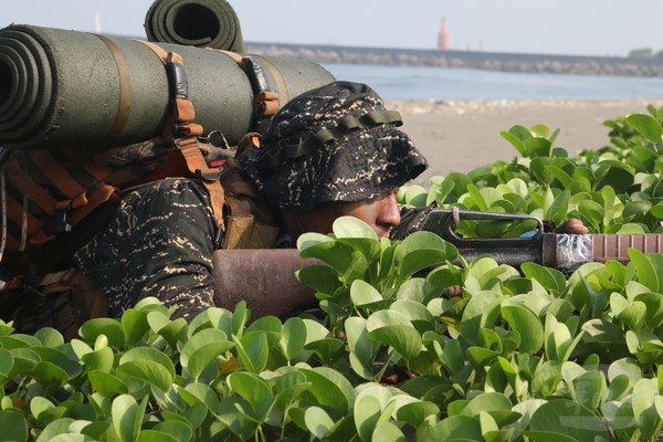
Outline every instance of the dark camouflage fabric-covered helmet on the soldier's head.
[[360, 83], [335, 82], [288, 102], [261, 149], [239, 159], [259, 190], [282, 209], [305, 212], [330, 201], [378, 197], [428, 167], [396, 127], [400, 114]]

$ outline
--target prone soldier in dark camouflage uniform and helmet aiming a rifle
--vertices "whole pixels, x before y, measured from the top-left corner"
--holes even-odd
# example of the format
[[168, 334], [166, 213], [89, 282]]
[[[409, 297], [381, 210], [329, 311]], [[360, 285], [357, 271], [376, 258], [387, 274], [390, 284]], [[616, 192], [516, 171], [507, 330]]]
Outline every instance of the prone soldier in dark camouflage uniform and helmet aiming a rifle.
[[[396, 192], [428, 167], [400, 116], [370, 87], [335, 82], [287, 103], [242, 152], [245, 175], [273, 207], [292, 246], [304, 232], [329, 233], [355, 215], [388, 236], [400, 222]], [[210, 197], [197, 181], [171, 178], [126, 194], [109, 227], [74, 255], [105, 293], [112, 316], [145, 296], [190, 320], [213, 306], [212, 253], [218, 236]]]

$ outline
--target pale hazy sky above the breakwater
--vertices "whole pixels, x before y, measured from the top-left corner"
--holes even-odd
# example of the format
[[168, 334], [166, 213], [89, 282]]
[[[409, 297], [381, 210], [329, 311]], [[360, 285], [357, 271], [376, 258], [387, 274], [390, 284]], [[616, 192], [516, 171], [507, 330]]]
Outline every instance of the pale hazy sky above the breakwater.
[[[27, 23], [144, 36], [151, 0], [0, 0], [0, 28]], [[244, 41], [573, 55], [663, 50], [661, 0], [234, 0]]]

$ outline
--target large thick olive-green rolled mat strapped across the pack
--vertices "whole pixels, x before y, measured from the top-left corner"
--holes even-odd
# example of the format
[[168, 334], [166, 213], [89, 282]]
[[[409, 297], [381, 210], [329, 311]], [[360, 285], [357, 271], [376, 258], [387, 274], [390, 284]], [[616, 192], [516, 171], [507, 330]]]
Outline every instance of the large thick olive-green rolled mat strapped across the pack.
[[[154, 44], [154, 43], [152, 43]], [[157, 44], [181, 55], [194, 123], [230, 145], [256, 129], [255, 75], [228, 54]], [[291, 98], [334, 81], [316, 63], [251, 55], [277, 93]], [[135, 40], [31, 25], [0, 30], [0, 145], [104, 149], [164, 133], [172, 108], [161, 59]]]

